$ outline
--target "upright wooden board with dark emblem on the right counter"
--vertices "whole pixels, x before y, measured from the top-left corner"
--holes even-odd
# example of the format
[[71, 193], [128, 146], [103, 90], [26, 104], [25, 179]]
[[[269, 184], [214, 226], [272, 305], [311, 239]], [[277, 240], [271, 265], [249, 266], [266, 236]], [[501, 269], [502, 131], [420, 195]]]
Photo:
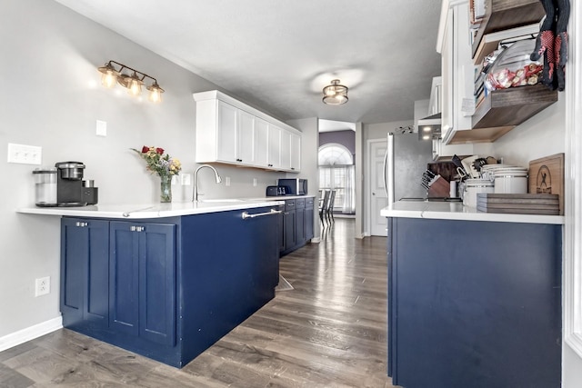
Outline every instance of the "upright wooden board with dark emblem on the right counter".
[[559, 195], [559, 214], [564, 215], [564, 154], [529, 162], [528, 193]]

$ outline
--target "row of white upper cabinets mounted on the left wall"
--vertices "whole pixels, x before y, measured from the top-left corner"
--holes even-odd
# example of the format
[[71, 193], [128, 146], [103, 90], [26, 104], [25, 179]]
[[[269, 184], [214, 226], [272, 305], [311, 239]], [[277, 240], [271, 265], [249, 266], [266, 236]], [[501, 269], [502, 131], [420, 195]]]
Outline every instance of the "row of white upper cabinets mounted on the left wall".
[[216, 90], [194, 99], [197, 163], [300, 171], [301, 132]]

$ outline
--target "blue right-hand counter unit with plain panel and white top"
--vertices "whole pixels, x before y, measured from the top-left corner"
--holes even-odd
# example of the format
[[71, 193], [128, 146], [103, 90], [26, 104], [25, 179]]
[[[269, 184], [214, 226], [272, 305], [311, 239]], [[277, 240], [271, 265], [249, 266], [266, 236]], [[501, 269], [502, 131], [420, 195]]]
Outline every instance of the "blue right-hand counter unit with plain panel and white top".
[[382, 215], [395, 385], [560, 386], [563, 217], [427, 202]]

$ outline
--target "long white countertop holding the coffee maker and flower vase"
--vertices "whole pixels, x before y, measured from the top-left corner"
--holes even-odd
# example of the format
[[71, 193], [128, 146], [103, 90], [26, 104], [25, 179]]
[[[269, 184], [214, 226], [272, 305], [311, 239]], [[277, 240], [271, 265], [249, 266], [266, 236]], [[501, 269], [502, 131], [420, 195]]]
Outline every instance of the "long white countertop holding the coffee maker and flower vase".
[[16, 212], [23, 214], [135, 219], [227, 212], [230, 210], [252, 209], [278, 204], [285, 204], [285, 202], [281, 200], [280, 197], [269, 197], [269, 199], [216, 199], [201, 201], [198, 203], [95, 204], [79, 207], [26, 207], [17, 209]]

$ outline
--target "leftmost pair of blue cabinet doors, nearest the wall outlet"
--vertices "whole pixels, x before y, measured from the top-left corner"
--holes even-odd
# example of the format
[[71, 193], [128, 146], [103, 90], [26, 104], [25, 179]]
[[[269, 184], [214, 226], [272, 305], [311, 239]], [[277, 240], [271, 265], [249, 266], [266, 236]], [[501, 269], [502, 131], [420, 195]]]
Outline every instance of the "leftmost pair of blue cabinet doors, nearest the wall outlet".
[[108, 222], [63, 218], [60, 307], [65, 326], [107, 326], [108, 247]]

